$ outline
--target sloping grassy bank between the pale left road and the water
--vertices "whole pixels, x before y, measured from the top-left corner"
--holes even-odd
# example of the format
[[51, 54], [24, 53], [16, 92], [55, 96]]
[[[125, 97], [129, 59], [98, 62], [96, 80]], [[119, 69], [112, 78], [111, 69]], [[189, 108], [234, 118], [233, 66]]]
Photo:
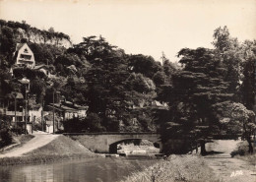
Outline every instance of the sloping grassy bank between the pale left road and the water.
[[90, 152], [76, 141], [59, 136], [51, 143], [26, 153], [23, 156], [0, 158], [0, 165], [44, 163], [64, 159], [99, 157], [100, 155]]

